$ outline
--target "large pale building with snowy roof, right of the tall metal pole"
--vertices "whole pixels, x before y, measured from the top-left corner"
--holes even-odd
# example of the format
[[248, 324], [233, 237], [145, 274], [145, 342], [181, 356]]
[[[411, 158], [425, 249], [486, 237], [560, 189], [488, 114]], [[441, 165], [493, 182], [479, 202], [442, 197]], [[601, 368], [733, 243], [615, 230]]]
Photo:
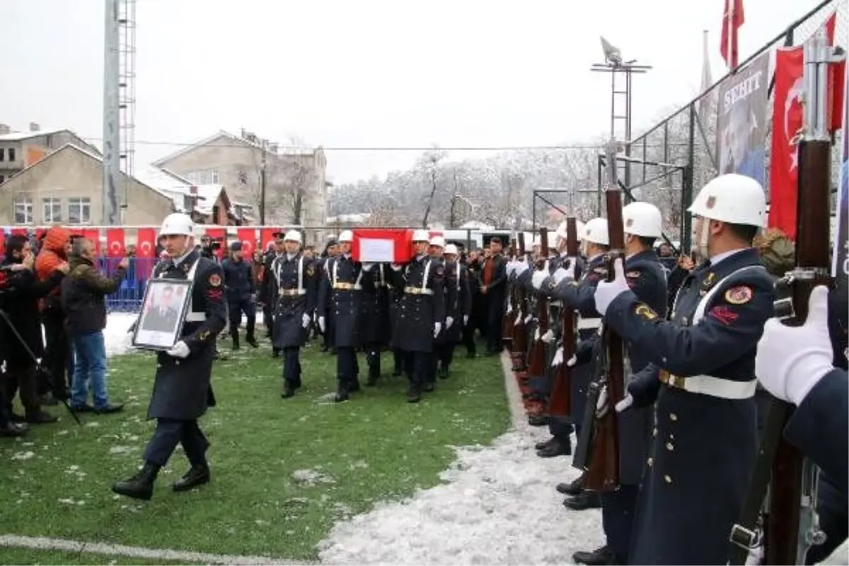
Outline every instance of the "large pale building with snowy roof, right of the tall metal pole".
[[[199, 187], [227, 188], [234, 216], [261, 216], [264, 170], [266, 224], [322, 227], [327, 216], [327, 160], [321, 148], [282, 148], [250, 132], [237, 136], [220, 131], [153, 165], [173, 171]], [[241, 208], [242, 205], [252, 206], [252, 210]], [[321, 239], [323, 233], [310, 231], [309, 238]]]

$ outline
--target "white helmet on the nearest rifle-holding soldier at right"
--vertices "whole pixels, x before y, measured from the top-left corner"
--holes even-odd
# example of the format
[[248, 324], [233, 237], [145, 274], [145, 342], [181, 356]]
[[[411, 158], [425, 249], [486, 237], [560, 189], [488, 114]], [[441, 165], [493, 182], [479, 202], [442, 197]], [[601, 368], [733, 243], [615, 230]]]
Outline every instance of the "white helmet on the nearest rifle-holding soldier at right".
[[702, 187], [687, 211], [710, 220], [761, 227], [767, 214], [767, 197], [755, 179], [728, 173]]

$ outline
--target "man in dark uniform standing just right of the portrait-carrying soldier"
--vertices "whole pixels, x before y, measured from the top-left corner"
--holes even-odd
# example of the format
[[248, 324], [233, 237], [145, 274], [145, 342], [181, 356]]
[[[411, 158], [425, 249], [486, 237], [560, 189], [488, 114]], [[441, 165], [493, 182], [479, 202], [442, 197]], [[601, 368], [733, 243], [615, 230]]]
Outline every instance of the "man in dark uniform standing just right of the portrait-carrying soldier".
[[250, 263], [242, 255], [242, 243], [230, 244], [230, 257], [221, 262], [224, 283], [227, 285], [228, 315], [230, 317], [230, 336], [233, 338], [233, 350], [239, 350], [239, 326], [242, 314], [247, 317], [245, 342], [258, 348], [254, 337], [256, 327], [256, 287]]

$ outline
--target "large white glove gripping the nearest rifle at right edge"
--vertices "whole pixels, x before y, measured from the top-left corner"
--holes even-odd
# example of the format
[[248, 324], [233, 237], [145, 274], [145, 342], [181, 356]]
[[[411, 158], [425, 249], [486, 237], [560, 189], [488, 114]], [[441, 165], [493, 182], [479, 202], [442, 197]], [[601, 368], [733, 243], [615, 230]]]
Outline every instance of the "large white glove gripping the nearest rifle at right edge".
[[800, 327], [767, 321], [755, 357], [755, 375], [767, 391], [799, 405], [834, 369], [828, 316], [829, 289], [820, 286], [811, 292], [807, 320]]

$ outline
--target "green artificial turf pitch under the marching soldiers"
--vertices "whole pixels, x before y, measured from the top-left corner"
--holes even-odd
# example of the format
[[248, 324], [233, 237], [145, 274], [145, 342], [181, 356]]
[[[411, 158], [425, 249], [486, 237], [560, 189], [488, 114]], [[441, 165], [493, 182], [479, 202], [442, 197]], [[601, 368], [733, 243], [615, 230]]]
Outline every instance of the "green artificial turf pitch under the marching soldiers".
[[[212, 483], [171, 492], [188, 468], [178, 449], [151, 502], [116, 496], [110, 485], [134, 473], [153, 429], [145, 411], [155, 361], [148, 354], [112, 358], [110, 395], [127, 402], [125, 412], [84, 415], [78, 427], [63, 407], [51, 407], [59, 423], [37, 426], [25, 439], [0, 439], [0, 532], [315, 558], [336, 520], [436, 485], [452, 446], [488, 444], [508, 429], [498, 357], [458, 354], [452, 376], [419, 404], [406, 402], [403, 378], [389, 377], [390, 353], [377, 387], [334, 404], [322, 398], [335, 389], [336, 358], [314, 343], [302, 358], [304, 387], [287, 400], [280, 398], [282, 361], [267, 347], [239, 350], [216, 362], [218, 406], [201, 419], [212, 445]], [[363, 356], [360, 367], [364, 373]], [[24, 563], [69, 563], [61, 552], [7, 549], [0, 564], [15, 563], [4, 558], [16, 552], [42, 554]]]

